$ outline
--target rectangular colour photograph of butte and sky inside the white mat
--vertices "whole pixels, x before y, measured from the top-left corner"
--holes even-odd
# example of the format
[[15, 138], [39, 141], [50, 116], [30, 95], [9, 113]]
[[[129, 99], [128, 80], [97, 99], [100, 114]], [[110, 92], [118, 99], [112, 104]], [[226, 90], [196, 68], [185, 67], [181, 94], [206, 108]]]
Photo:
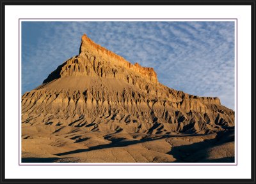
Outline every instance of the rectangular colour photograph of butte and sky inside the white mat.
[[236, 19], [21, 20], [26, 163], [234, 164]]

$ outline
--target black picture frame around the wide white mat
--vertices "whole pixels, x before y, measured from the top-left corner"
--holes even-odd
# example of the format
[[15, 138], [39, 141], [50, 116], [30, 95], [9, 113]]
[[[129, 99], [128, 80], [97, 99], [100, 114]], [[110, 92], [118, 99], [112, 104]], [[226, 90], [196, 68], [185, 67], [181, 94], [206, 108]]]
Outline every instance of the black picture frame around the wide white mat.
[[[252, 102], [251, 102], [251, 107], [252, 107], [252, 117], [251, 117], [251, 124], [252, 124], [252, 165], [251, 165], [251, 178], [250, 179], [7, 179], [5, 178], [5, 132], [4, 132], [4, 127], [5, 127], [5, 104], [8, 103], [8, 100], [5, 99], [5, 58], [7, 57], [4, 55], [5, 52], [5, 13], [4, 10], [7, 5], [190, 5], [191, 7], [193, 5], [250, 5], [251, 10], [252, 10], [252, 22], [251, 22], [251, 27], [252, 27], [252, 56], [251, 56], [251, 72], [252, 72], [252, 83], [251, 83], [251, 88], [252, 88]], [[256, 94], [256, 89], [255, 89], [255, 83], [256, 83], [256, 65], [255, 65], [255, 44], [256, 44], [256, 39], [255, 39], [255, 17], [256, 17], [256, 0], [210, 0], [210, 1], [204, 1], [204, 0], [191, 0], [191, 1], [185, 1], [185, 0], [180, 0], [180, 1], [165, 1], [165, 0], [160, 0], [160, 1], [127, 1], [127, 0], [90, 0], [90, 1], [78, 1], [78, 0], [38, 0], [38, 1], [29, 1], [29, 0], [14, 0], [14, 1], [8, 1], [8, 0], [1, 0], [1, 50], [0, 50], [0, 55], [1, 55], [1, 62], [0, 62], [0, 126], [1, 126], [1, 136], [0, 136], [0, 183], [256, 183], [255, 179], [255, 94]], [[236, 173], [234, 173], [236, 174]]]

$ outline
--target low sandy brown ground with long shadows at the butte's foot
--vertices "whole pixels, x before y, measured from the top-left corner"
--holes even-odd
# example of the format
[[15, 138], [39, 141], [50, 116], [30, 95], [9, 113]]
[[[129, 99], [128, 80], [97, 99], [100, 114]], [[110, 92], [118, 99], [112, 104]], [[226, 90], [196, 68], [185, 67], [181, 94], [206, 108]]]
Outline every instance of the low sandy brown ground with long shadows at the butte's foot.
[[211, 134], [86, 132], [22, 126], [22, 162], [234, 162], [234, 130]]

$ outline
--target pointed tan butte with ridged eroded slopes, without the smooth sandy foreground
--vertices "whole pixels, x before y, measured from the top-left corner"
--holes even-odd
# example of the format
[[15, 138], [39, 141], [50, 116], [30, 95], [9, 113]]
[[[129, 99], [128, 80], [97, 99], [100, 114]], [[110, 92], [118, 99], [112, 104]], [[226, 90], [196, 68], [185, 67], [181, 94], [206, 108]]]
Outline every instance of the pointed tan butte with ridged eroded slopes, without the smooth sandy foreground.
[[22, 124], [209, 133], [234, 126], [234, 111], [218, 97], [193, 96], [162, 85], [153, 68], [131, 64], [84, 34], [79, 55], [22, 96]]

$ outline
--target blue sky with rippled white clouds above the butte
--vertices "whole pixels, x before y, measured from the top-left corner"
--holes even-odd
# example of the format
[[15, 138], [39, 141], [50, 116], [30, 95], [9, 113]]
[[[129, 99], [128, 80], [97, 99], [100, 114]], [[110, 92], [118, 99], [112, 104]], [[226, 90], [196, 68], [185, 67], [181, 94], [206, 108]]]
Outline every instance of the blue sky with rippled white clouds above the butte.
[[234, 22], [22, 22], [22, 94], [77, 55], [84, 33], [164, 85], [234, 110]]

